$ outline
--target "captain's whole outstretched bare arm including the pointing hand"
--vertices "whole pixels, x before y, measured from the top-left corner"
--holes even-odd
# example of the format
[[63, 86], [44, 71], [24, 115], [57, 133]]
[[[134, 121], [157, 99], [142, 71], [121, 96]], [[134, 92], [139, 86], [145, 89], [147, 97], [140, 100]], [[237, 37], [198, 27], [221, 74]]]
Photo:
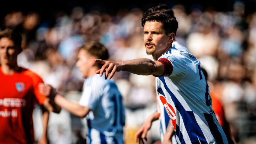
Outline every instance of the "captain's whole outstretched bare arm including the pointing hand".
[[111, 79], [116, 71], [128, 71], [138, 75], [162, 75], [164, 74], [164, 66], [159, 61], [153, 61], [146, 58], [133, 59], [123, 62], [112, 62], [108, 60], [95, 59], [96, 62], [103, 64], [96, 74], [103, 75], [106, 72], [105, 79], [109, 75]]

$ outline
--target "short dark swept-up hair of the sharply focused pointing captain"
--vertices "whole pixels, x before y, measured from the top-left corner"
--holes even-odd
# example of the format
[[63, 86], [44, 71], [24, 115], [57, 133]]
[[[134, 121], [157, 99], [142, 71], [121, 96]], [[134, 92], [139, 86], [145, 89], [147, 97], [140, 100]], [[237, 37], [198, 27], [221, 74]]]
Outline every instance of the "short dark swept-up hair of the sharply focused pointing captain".
[[149, 15], [145, 15], [142, 18], [142, 27], [144, 27], [146, 21], [161, 22], [166, 35], [172, 32], [176, 35], [178, 29], [178, 22], [174, 16], [171, 17], [164, 12], [155, 12]]

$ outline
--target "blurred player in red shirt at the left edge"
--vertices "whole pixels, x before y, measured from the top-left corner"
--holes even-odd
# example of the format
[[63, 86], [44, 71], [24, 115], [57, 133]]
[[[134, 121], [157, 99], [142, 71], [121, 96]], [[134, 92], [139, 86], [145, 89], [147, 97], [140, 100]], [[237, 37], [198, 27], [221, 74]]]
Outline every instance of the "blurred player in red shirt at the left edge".
[[34, 143], [32, 113], [36, 103], [42, 105], [43, 111], [39, 143], [47, 143], [48, 111], [59, 113], [60, 107], [39, 92], [38, 84], [43, 80], [37, 74], [17, 65], [21, 41], [21, 35], [14, 30], [0, 32], [0, 144]]

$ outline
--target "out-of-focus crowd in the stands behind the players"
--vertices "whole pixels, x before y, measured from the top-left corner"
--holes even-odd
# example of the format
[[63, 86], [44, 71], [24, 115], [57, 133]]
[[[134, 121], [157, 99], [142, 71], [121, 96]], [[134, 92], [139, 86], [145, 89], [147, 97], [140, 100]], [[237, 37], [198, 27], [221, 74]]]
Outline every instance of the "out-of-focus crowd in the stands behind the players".
[[[209, 75], [210, 92], [222, 101], [238, 144], [256, 143], [256, 1], [164, 1], [178, 21], [176, 40], [195, 55]], [[142, 12], [151, 1], [1, 1], [0, 31], [17, 29], [23, 37], [18, 65], [39, 74], [66, 98], [78, 101], [82, 78], [75, 66], [78, 47], [91, 40], [109, 50], [111, 60], [146, 55]], [[154, 76], [118, 72], [114, 76], [126, 107], [124, 142], [156, 111]], [[36, 140], [42, 132], [40, 108], [34, 111]], [[50, 143], [83, 143], [86, 122], [69, 112], [51, 113]], [[160, 140], [154, 122], [148, 142]]]

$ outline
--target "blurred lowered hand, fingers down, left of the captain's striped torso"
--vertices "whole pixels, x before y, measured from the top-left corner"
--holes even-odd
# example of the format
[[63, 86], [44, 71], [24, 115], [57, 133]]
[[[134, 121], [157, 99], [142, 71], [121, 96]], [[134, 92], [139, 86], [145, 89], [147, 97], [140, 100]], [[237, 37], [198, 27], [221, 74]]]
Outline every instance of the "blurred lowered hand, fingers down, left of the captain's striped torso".
[[140, 126], [139, 130], [135, 134], [135, 142], [139, 142], [139, 144], [144, 144], [144, 140], [148, 140], [146, 138], [146, 134], [148, 133], [148, 130], [151, 128], [151, 121], [146, 120], [142, 126]]

